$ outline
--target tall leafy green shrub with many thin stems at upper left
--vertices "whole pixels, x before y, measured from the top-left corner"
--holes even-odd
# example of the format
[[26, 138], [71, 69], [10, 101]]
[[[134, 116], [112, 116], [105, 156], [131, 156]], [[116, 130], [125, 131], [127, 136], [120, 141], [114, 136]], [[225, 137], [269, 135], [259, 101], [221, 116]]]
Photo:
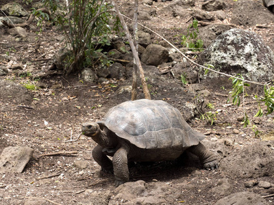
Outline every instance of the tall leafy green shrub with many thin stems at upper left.
[[45, 0], [45, 5], [50, 8], [54, 17], [55, 25], [63, 31], [71, 55], [66, 61], [64, 68], [66, 74], [82, 70], [84, 65], [93, 65], [99, 61], [103, 65], [110, 64], [99, 55], [103, 49], [101, 46], [108, 45], [108, 36], [113, 30], [119, 29], [119, 20], [114, 19], [110, 27], [110, 19], [114, 18], [110, 9], [112, 5], [104, 0], [70, 1], [66, 7], [54, 0]]

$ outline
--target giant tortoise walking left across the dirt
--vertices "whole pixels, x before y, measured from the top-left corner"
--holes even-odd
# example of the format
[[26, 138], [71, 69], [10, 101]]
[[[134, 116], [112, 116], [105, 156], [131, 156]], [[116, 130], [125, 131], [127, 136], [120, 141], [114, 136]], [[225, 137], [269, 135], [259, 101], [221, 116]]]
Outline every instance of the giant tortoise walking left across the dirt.
[[123, 102], [112, 107], [103, 122], [85, 122], [82, 133], [98, 143], [92, 156], [102, 170], [114, 172], [116, 187], [129, 180], [129, 161], [169, 161], [185, 150], [199, 156], [206, 169], [218, 168], [216, 155], [199, 142], [205, 136], [162, 100]]

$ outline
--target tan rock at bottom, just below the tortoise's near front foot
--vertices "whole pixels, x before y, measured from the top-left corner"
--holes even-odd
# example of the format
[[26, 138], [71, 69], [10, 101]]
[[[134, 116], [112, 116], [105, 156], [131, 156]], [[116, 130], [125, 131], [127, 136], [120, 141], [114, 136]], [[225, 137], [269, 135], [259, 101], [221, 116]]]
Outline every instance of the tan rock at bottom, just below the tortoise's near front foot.
[[136, 182], [126, 182], [117, 187], [114, 192], [116, 193], [114, 199], [132, 200], [136, 197], [147, 196], [147, 189], [145, 182], [138, 180]]

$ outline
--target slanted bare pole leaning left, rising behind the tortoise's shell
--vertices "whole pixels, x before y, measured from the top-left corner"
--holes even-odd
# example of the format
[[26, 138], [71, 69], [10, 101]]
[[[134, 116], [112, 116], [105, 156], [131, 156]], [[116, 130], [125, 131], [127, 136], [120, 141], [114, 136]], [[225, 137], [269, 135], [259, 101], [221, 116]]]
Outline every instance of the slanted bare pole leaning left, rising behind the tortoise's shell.
[[132, 54], [134, 55], [134, 59], [136, 60], [136, 65], [139, 68], [140, 79], [141, 79], [141, 82], [142, 82], [142, 89], [143, 89], [143, 92], [145, 94], [145, 98], [150, 100], [151, 96], [149, 94], [149, 89], [147, 88], [147, 83], [145, 81], [144, 70], [142, 70], [142, 65], [140, 63], [140, 59], [138, 57], [138, 52], [136, 51], [136, 47], [134, 46], [134, 42], [132, 41], [132, 36], [129, 33], [129, 29], [127, 28], [127, 25], [125, 24], [125, 20], [123, 18], [124, 15], [122, 16], [118, 6], [116, 5], [116, 3], [114, 1], [112, 1], [112, 5], [114, 5], [114, 7], [115, 7], [116, 14], [117, 14], [117, 16], [119, 17], [119, 19], [121, 21], [121, 25], [122, 25], [122, 27], [125, 31], [125, 34], [127, 35], [127, 40], [129, 41], [129, 46], [132, 49]]

